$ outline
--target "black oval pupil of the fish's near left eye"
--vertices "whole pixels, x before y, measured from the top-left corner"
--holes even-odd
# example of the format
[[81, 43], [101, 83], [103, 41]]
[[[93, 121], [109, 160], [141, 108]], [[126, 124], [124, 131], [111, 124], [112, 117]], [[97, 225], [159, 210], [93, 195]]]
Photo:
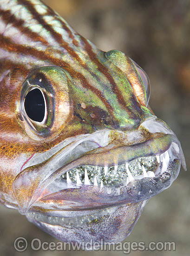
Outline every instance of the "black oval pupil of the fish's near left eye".
[[45, 115], [45, 102], [41, 91], [36, 88], [25, 97], [25, 111], [30, 119], [41, 122]]

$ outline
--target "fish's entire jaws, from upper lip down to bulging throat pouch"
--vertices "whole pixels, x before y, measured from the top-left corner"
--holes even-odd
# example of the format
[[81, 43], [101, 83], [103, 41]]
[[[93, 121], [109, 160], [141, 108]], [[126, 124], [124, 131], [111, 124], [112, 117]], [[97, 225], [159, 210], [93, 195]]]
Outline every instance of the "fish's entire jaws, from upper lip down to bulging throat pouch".
[[146, 120], [130, 138], [139, 140], [141, 128], [151, 138], [115, 146], [115, 131], [103, 130], [31, 158], [13, 183], [20, 213], [61, 241], [122, 241], [145, 203], [170, 187], [181, 162], [185, 168], [180, 142], [163, 121]]

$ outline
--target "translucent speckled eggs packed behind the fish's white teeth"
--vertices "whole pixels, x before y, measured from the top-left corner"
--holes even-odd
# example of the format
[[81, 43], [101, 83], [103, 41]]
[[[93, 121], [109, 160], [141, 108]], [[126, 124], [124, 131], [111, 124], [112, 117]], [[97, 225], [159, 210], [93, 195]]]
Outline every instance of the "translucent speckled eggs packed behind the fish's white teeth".
[[[138, 175], [143, 174], [142, 166], [144, 166], [146, 172], [155, 172], [158, 162], [155, 156], [139, 157], [129, 162], [129, 170], [132, 176], [137, 178]], [[83, 165], [77, 168], [73, 168], [68, 171], [69, 178], [72, 182], [77, 182], [77, 172], [81, 183], [85, 183], [85, 170], [87, 171], [88, 178], [91, 184], [94, 184], [94, 177], [97, 179], [97, 183], [103, 182], [105, 186], [117, 186], [126, 181], [128, 175], [125, 165], [111, 166], [111, 167], [98, 167], [92, 165]], [[66, 173], [61, 176], [66, 180]]]

